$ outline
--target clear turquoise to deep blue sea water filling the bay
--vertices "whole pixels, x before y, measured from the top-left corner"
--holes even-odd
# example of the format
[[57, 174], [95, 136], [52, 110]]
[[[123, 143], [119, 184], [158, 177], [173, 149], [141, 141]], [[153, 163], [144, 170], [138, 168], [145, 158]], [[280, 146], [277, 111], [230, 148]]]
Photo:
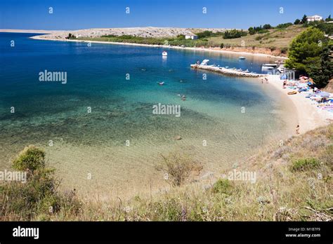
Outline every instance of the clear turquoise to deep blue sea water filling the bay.
[[[258, 80], [214, 73], [203, 80], [204, 72], [190, 69], [208, 58], [261, 72], [267, 60], [176, 49], [162, 58], [162, 48], [89, 47], [29, 36], [0, 33], [0, 168], [25, 145], [37, 144], [65, 184], [91, 186], [85, 179], [92, 172], [93, 186], [133, 186], [158, 179], [152, 165], [160, 154], [182, 151], [218, 172], [287, 133], [280, 97]], [[67, 83], [39, 81], [44, 70], [67, 72]], [[152, 114], [158, 103], [181, 105], [181, 116]]]

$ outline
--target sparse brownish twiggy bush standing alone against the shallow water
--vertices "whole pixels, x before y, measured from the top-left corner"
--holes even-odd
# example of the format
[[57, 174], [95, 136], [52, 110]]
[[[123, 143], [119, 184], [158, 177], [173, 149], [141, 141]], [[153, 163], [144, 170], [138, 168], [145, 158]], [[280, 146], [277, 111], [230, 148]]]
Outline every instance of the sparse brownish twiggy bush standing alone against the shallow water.
[[169, 154], [168, 157], [162, 155], [163, 161], [155, 165], [158, 171], [164, 171], [168, 174], [168, 179], [171, 179], [171, 184], [178, 187], [192, 172], [200, 173], [202, 165], [195, 163], [189, 156], [181, 154]]

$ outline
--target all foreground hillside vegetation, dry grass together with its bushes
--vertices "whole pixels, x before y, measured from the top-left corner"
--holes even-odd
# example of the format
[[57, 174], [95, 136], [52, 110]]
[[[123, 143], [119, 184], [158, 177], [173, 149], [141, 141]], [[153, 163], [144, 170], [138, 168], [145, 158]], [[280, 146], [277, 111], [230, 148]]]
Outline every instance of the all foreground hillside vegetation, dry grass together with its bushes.
[[332, 141], [331, 124], [263, 149], [236, 166], [256, 172], [255, 182], [219, 178], [189, 183], [184, 179], [200, 165], [183, 156], [164, 158], [159, 170], [174, 174], [169, 191], [116, 203], [84, 201], [74, 191], [59, 191], [44, 152], [30, 146], [13, 162], [16, 169], [26, 166], [27, 182], [0, 185], [0, 219], [332, 221]]

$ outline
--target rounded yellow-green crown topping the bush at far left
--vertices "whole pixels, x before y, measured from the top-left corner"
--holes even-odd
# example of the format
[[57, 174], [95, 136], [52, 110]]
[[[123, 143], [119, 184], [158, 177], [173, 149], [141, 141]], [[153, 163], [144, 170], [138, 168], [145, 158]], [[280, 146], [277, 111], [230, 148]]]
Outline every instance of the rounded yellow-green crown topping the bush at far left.
[[45, 166], [45, 152], [34, 145], [25, 147], [13, 161], [15, 170], [38, 170]]

